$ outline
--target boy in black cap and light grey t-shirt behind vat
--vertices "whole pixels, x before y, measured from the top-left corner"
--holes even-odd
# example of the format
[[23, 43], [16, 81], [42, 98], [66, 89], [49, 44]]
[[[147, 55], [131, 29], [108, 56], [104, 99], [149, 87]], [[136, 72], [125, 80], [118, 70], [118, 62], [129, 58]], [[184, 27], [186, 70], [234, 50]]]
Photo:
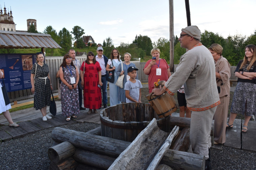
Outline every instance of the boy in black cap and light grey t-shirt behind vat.
[[132, 103], [132, 102], [141, 103], [140, 100], [141, 100], [142, 85], [139, 80], [135, 79], [137, 76], [137, 71], [138, 69], [132, 66], [127, 69], [128, 76], [130, 76], [130, 79], [124, 85], [127, 103]]

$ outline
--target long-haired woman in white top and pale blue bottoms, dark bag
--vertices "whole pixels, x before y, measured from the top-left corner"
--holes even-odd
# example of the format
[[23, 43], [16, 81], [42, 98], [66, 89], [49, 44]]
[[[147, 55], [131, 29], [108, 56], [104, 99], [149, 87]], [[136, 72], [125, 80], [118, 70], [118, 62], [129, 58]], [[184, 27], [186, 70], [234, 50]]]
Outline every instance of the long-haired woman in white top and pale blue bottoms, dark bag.
[[[110, 59], [108, 59], [106, 67], [106, 71], [108, 72], [115, 70], [115, 81], [113, 83], [109, 82], [110, 106], [121, 103], [120, 101], [118, 101], [118, 86], [116, 85], [119, 76], [117, 75], [116, 68], [118, 68], [121, 63], [122, 60], [120, 59], [119, 51], [114, 48], [111, 51]], [[110, 69], [110, 67], [112, 68]]]

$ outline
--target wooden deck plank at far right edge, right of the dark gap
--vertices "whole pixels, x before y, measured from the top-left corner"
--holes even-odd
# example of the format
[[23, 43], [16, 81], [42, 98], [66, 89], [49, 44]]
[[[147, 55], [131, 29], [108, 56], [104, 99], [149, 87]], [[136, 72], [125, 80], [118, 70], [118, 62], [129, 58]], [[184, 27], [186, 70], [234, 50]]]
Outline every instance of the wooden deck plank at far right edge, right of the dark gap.
[[[242, 126], [245, 120], [242, 120]], [[249, 121], [248, 123], [248, 131], [246, 133], [242, 133], [242, 150], [246, 151], [254, 151], [256, 152], [256, 122]]]

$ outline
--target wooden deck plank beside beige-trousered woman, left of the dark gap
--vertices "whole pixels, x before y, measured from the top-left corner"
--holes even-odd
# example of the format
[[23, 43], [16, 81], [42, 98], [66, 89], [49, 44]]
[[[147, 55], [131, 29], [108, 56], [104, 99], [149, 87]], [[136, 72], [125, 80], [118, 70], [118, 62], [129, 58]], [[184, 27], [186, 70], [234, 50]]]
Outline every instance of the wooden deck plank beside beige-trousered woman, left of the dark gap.
[[235, 119], [232, 129], [226, 130], [224, 146], [241, 149], [241, 119]]

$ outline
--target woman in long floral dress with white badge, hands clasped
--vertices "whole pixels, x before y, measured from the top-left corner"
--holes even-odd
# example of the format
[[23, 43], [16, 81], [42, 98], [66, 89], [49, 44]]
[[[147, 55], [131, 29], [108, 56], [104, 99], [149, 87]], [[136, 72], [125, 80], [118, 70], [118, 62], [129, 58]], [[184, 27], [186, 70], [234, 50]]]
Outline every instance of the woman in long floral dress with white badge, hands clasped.
[[77, 118], [76, 114], [80, 113], [79, 109], [79, 96], [78, 96], [78, 68], [72, 62], [69, 54], [64, 55], [62, 64], [60, 66], [60, 79], [61, 83], [61, 110], [62, 115], [67, 117], [66, 121], [70, 118]]

